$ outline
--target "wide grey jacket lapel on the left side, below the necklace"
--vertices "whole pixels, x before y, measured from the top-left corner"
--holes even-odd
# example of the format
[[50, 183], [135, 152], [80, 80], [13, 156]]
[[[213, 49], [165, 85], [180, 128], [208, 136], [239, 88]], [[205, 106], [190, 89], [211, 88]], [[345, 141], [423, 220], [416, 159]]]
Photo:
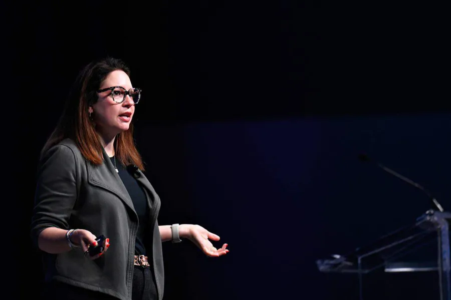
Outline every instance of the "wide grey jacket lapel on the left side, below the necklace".
[[110, 157], [105, 152], [105, 149], [102, 149], [102, 151], [104, 163], [101, 165], [93, 165], [89, 162], [87, 163], [89, 183], [116, 194], [134, 212], [137, 218], [138, 216], [127, 188], [119, 177], [119, 174], [114, 169]]

